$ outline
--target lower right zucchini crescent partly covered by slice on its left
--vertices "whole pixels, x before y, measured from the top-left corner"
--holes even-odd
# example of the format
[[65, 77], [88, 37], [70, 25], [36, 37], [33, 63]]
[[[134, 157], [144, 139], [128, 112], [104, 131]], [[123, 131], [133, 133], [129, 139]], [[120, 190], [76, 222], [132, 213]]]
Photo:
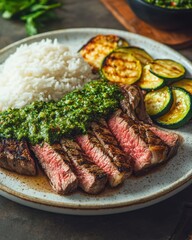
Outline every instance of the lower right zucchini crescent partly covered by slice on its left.
[[183, 88], [173, 87], [173, 105], [168, 113], [157, 118], [158, 125], [176, 129], [192, 118], [192, 96]]

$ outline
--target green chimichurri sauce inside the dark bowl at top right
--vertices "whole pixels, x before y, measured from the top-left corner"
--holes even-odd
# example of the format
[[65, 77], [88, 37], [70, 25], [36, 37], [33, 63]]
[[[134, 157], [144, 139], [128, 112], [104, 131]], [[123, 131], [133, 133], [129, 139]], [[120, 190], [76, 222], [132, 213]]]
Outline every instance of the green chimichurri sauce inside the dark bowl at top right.
[[167, 8], [192, 8], [191, 0], [145, 0], [148, 3], [159, 7]]

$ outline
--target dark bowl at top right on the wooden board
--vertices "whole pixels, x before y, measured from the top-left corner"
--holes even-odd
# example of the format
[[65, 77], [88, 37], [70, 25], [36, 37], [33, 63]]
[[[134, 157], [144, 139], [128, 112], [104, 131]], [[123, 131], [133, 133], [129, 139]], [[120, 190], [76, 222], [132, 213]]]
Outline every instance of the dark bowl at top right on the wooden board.
[[144, 0], [126, 0], [135, 15], [144, 22], [163, 30], [186, 29], [192, 24], [192, 9], [155, 6]]

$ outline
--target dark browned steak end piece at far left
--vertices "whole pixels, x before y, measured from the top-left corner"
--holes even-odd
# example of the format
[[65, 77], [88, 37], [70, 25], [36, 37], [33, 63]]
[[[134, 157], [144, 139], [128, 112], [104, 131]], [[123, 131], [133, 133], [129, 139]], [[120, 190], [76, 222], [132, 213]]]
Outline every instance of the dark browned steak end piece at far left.
[[19, 174], [34, 176], [35, 160], [26, 141], [2, 139], [0, 141], [0, 167]]

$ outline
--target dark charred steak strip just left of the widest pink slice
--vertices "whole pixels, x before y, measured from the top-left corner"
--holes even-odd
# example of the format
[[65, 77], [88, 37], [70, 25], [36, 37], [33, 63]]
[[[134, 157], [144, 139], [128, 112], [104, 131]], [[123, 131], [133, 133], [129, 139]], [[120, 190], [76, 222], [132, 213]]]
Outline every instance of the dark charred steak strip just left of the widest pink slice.
[[93, 122], [91, 124], [91, 128], [97, 139], [102, 144], [103, 148], [113, 159], [115, 165], [118, 166], [119, 169], [122, 168], [122, 171], [125, 172], [127, 177], [130, 176], [132, 172], [132, 159], [130, 155], [125, 154], [125, 152], [123, 152], [123, 150], [120, 148], [106, 121], [104, 119], [100, 119], [98, 123]]

